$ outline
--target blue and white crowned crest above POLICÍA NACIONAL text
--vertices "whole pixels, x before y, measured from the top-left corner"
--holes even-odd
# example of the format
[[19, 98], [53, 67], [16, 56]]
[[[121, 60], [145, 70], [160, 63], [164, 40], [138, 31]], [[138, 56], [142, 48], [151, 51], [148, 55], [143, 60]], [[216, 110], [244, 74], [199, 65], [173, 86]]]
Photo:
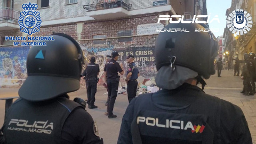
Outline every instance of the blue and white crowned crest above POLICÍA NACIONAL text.
[[25, 11], [20, 12], [19, 26], [21, 32], [32, 35], [40, 31], [42, 21], [40, 13], [36, 11], [37, 7], [37, 4], [30, 2], [22, 5], [22, 9]]

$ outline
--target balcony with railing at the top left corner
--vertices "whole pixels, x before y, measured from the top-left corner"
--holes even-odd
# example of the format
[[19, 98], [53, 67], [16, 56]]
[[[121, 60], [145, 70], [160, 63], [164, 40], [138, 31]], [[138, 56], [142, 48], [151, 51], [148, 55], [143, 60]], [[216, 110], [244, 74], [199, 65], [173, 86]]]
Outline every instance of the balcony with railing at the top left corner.
[[19, 28], [19, 11], [9, 7], [0, 9], [0, 30], [10, 30]]

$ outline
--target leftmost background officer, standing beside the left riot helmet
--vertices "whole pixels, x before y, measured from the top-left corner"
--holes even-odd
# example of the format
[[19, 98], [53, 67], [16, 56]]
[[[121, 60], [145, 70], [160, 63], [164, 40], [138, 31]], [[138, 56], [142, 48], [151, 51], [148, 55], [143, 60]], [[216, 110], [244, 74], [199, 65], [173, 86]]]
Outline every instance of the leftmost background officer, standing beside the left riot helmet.
[[98, 83], [98, 75], [100, 73], [100, 67], [97, 63], [95, 63], [95, 57], [91, 57], [91, 63], [87, 65], [87, 68], [83, 72], [83, 76], [85, 76], [86, 81], [86, 91], [87, 91], [87, 103], [88, 108], [98, 108], [94, 105], [95, 102], [95, 93], [97, 92], [97, 83]]

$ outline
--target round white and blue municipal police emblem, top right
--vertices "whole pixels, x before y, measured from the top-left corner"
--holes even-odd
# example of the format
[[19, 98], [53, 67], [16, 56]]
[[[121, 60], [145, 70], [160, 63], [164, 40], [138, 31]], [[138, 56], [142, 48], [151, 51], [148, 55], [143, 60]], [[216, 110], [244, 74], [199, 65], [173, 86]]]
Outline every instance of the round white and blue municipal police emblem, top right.
[[229, 13], [227, 19], [227, 27], [231, 33], [236, 35], [244, 35], [252, 28], [251, 14], [242, 9], [237, 9]]

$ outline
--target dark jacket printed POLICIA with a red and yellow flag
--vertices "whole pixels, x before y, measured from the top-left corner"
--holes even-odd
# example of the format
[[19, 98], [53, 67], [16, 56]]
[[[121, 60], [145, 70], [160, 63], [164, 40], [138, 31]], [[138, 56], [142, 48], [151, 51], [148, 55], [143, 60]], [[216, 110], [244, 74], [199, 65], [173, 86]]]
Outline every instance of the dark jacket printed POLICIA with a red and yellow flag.
[[251, 144], [252, 138], [239, 107], [185, 83], [134, 98], [117, 143]]

